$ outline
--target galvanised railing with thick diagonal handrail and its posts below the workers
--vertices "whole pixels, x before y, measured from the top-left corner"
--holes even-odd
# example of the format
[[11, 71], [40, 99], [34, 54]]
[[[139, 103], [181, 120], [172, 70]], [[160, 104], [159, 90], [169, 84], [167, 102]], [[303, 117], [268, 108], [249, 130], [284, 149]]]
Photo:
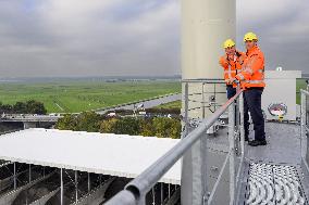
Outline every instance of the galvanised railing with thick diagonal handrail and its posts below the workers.
[[[213, 81], [217, 84], [218, 81]], [[185, 82], [186, 85], [188, 82]], [[186, 86], [188, 87], [188, 86]], [[187, 88], [186, 89], [186, 94]], [[226, 156], [226, 163], [221, 169], [221, 174], [212, 189], [211, 193], [205, 193], [208, 197], [203, 198], [206, 204], [212, 204], [214, 197], [217, 197], [217, 188], [220, 180], [222, 180], [223, 169], [230, 162], [230, 194], [231, 204], [235, 204], [237, 195], [238, 184], [237, 181], [240, 178], [242, 167], [235, 167], [235, 157], [240, 158], [240, 165], [244, 161], [244, 129], [242, 125], [244, 120], [243, 115], [243, 90], [238, 90], [237, 93], [230, 99], [225, 104], [217, 107], [215, 112], [208, 118], [203, 118], [197, 128], [191, 131], [186, 131], [186, 136], [168, 153], [161, 156], [156, 163], [148, 167], [143, 174], [132, 180], [123, 191], [112, 197], [107, 205], [145, 205], [146, 194], [158, 183], [158, 181], [169, 171], [169, 169], [181, 159], [184, 154], [191, 149], [191, 146], [201, 138], [206, 137], [207, 130], [213, 126], [213, 124], [226, 112], [228, 112], [228, 154]], [[188, 101], [188, 99], [186, 99]], [[187, 105], [186, 105], [187, 106]], [[186, 107], [187, 108], [187, 107]], [[237, 117], [235, 117], [237, 116]], [[187, 119], [187, 114], [184, 118]], [[236, 146], [236, 141], [240, 142], [240, 146]], [[207, 162], [203, 162], [207, 163]], [[202, 179], [200, 179], [202, 180]]]

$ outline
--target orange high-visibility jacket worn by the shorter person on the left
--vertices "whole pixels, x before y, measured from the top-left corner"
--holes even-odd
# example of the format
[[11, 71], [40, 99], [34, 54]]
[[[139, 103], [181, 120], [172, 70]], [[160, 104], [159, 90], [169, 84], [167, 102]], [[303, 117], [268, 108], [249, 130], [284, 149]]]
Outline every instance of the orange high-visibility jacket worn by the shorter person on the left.
[[[228, 60], [227, 55], [220, 57], [219, 64], [224, 69], [224, 80], [226, 85], [232, 85], [228, 80], [233, 80], [238, 73], [242, 72], [242, 64], [245, 60], [245, 53], [236, 51], [233, 60]], [[236, 88], [237, 85], [233, 84], [233, 87]]]

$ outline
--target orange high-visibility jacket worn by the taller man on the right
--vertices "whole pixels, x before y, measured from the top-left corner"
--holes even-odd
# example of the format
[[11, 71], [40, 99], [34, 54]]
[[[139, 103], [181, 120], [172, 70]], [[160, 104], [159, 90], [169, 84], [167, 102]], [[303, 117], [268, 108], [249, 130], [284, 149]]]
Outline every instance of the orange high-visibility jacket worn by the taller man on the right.
[[258, 47], [247, 51], [242, 72], [236, 76], [243, 88], [265, 87], [264, 55]]

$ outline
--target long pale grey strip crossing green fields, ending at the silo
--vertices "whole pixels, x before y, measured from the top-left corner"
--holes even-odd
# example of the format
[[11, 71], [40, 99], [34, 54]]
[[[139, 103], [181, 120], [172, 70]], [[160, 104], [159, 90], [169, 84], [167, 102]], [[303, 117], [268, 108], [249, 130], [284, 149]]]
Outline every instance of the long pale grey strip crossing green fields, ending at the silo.
[[110, 111], [134, 110], [139, 104], [144, 104], [144, 108], [151, 108], [151, 107], [154, 107], [154, 106], [159, 106], [161, 104], [166, 104], [166, 103], [180, 101], [180, 100], [182, 100], [182, 94], [181, 93], [173, 93], [173, 94], [169, 94], [169, 95], [153, 98], [153, 99], [150, 99], [150, 100], [144, 100], [144, 101], [139, 101], [139, 102], [128, 103], [128, 104], [125, 104], [125, 105], [108, 107], [108, 108], [104, 108], [104, 110], [101, 110], [101, 111], [96, 111], [96, 113], [102, 115], [102, 114], [106, 114], [107, 112], [110, 112]]

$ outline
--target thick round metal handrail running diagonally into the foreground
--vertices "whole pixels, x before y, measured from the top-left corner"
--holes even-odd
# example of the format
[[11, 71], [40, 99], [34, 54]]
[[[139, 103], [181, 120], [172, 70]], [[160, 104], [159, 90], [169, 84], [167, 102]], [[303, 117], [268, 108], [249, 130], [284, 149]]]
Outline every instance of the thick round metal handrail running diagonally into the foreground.
[[163, 177], [163, 175], [168, 172], [168, 170], [186, 153], [186, 151], [203, 136], [203, 133], [220, 118], [222, 114], [226, 112], [230, 105], [232, 105], [242, 93], [243, 90], [239, 90], [223, 106], [217, 110], [213, 115], [203, 119], [196, 129], [194, 129], [168, 153], [161, 156], [156, 163], [131, 181], [125, 187], [125, 190], [111, 198], [107, 205], [144, 204], [141, 201], [145, 200], [147, 192], [150, 191], [151, 188]]

